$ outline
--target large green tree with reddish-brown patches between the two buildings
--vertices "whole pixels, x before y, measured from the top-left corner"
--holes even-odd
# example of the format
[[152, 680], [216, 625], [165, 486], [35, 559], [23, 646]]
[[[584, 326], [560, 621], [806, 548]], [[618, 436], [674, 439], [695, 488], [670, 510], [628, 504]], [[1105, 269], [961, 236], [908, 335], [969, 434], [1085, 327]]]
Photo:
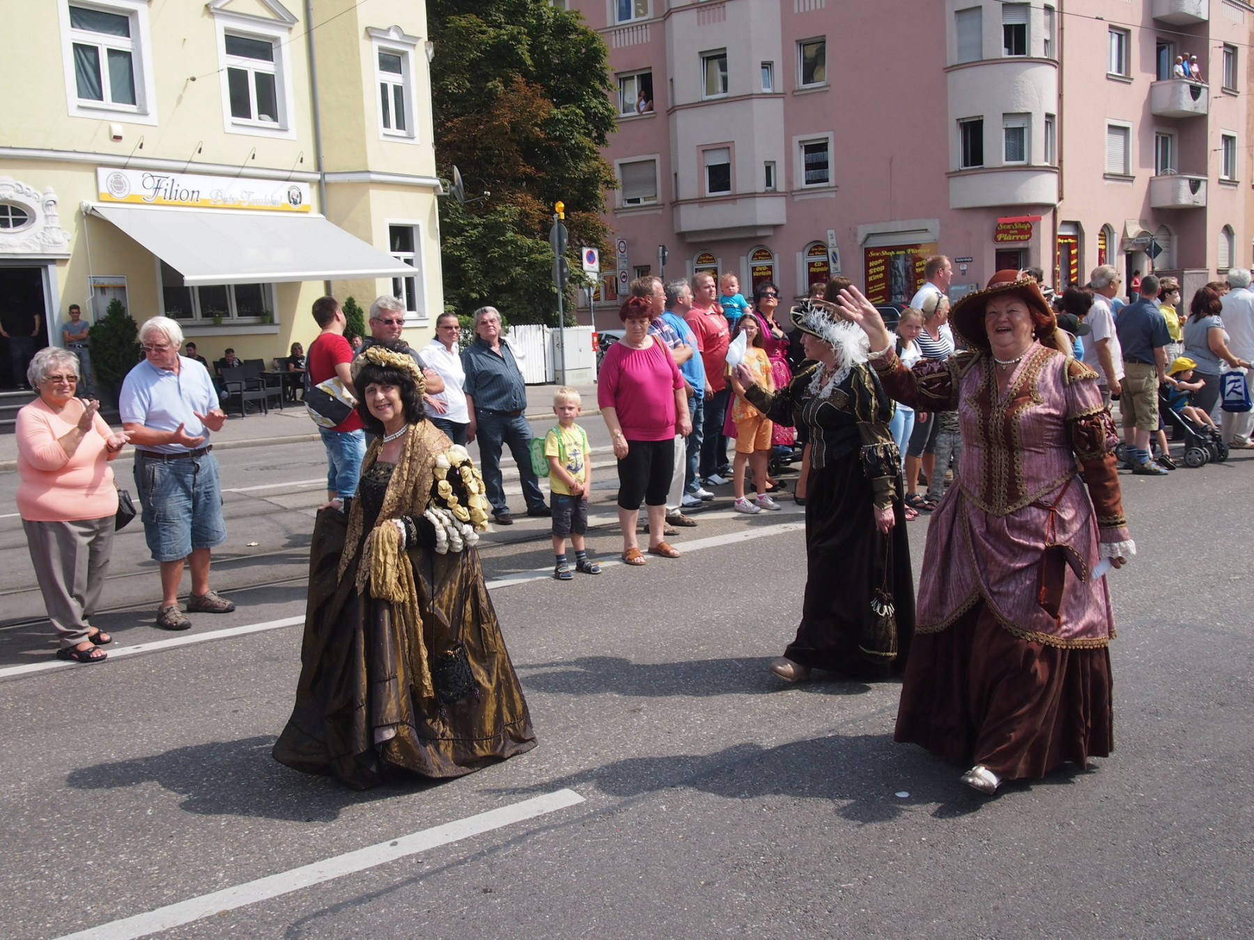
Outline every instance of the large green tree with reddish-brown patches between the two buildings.
[[567, 207], [573, 281], [579, 247], [604, 249], [609, 234], [606, 44], [547, 0], [430, 0], [428, 21], [436, 160], [445, 175], [456, 165], [472, 196], [492, 193], [440, 199], [445, 308], [490, 303], [517, 323], [556, 325], [553, 204]]

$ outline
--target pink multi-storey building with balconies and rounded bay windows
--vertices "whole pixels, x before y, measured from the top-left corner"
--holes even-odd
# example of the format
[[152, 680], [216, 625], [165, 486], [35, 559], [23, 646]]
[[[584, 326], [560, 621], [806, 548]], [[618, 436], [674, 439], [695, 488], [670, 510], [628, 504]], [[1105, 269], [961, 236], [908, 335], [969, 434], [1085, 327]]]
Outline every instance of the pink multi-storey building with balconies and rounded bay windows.
[[[839, 272], [875, 301], [909, 300], [932, 253], [956, 297], [1099, 263], [1191, 297], [1250, 263], [1244, 0], [566, 5], [618, 85], [607, 302], [660, 273], [660, 246], [668, 278], [790, 297]], [[1194, 55], [1200, 81], [1175, 74]]]

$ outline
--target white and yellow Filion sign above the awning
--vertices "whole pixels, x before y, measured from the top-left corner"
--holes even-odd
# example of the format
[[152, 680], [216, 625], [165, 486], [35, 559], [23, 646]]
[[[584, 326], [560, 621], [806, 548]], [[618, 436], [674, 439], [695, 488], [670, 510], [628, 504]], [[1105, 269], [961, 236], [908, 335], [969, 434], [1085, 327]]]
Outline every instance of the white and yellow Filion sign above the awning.
[[95, 170], [100, 202], [182, 206], [192, 209], [311, 212], [306, 183], [248, 177], [204, 177], [142, 169]]

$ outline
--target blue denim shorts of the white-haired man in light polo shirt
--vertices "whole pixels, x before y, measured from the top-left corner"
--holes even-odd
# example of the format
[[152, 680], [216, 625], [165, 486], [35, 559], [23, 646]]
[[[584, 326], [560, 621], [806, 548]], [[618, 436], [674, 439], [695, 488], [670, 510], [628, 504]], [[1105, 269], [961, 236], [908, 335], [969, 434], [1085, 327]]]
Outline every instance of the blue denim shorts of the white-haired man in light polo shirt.
[[179, 561], [227, 540], [218, 461], [212, 454], [158, 460], [135, 451], [135, 489], [154, 561]]

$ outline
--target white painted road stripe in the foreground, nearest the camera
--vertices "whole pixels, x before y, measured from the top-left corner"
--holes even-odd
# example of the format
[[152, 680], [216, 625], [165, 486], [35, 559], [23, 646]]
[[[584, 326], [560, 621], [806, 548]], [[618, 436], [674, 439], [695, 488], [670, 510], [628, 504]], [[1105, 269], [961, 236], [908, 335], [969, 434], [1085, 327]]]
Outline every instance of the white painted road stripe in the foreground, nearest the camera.
[[537, 816], [557, 812], [568, 806], [577, 806], [583, 802], [583, 797], [573, 790], [558, 790], [554, 793], [545, 793], [520, 803], [502, 806], [498, 810], [489, 810], [477, 816], [468, 816], [464, 820], [446, 822], [420, 832], [413, 832], [387, 842], [355, 852], [345, 852], [334, 859], [325, 859], [312, 865], [303, 865], [291, 871], [282, 871], [277, 875], [248, 881], [243, 885], [227, 887], [212, 894], [192, 897], [166, 907], [158, 907], [147, 914], [137, 914], [133, 917], [124, 917], [110, 924], [102, 924], [98, 927], [82, 930], [76, 934], [68, 934], [58, 940], [133, 940], [134, 937], [148, 936], [150, 934], [169, 930], [183, 924], [192, 924], [197, 920], [212, 917], [217, 914], [245, 907], [258, 901], [268, 901], [302, 887], [331, 881], [344, 875], [352, 875], [390, 861], [404, 859], [410, 855], [425, 852], [441, 845], [458, 842], [470, 836], [510, 826], [523, 820], [532, 820]]

